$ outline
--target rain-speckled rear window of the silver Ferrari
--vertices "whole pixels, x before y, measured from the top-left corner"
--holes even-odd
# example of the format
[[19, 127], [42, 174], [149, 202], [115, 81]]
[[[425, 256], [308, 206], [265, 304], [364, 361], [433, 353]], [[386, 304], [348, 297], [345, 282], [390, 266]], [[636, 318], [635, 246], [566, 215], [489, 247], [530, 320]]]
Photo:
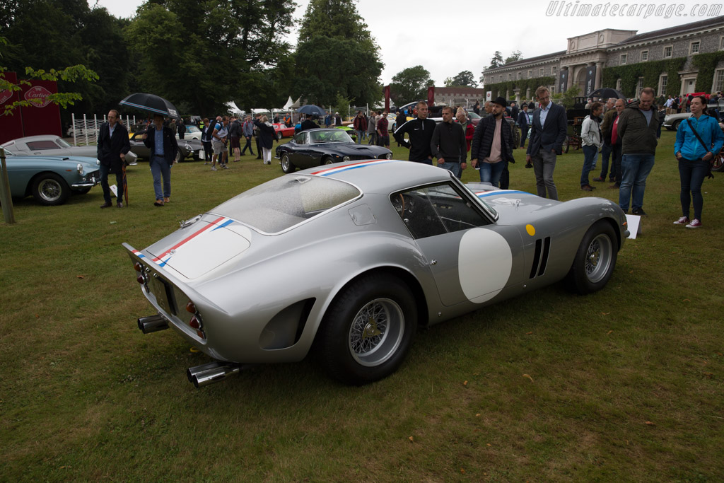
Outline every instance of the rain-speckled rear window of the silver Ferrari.
[[247, 190], [212, 210], [264, 233], [279, 233], [362, 193], [327, 177], [287, 175]]

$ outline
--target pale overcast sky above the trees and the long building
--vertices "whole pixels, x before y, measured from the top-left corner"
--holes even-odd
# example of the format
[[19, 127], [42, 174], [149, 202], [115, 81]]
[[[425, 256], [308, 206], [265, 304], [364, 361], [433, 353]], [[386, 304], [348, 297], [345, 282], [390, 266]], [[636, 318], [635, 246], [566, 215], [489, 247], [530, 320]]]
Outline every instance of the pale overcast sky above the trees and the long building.
[[[91, 6], [94, 3], [95, 0], [89, 0]], [[297, 0], [295, 20], [302, 18], [308, 3], [308, 0]], [[132, 17], [143, 0], [98, 0], [98, 4], [116, 17]], [[575, 15], [578, 11], [573, 8], [580, 9], [584, 4], [591, 6], [592, 13], [597, 10], [598, 16]], [[605, 28], [644, 33], [711, 18], [710, 11], [691, 11], [694, 6], [702, 5], [706, 6], [704, 9], [720, 9], [718, 14], [724, 14], [722, 4], [699, 0], [676, 4], [589, 0], [359, 0], [357, 9], [380, 47], [384, 85], [390, 83], [397, 72], [421, 64], [429, 70], [435, 85], [441, 86], [446, 77], [454, 77], [463, 70], [473, 72], [476, 80], [479, 79], [495, 51], [500, 51], [503, 59], [516, 50], [520, 50], [523, 57], [534, 57], [565, 50], [568, 38]], [[625, 10], [622, 11], [622, 7]], [[290, 43], [292, 46], [296, 43], [296, 29]]]

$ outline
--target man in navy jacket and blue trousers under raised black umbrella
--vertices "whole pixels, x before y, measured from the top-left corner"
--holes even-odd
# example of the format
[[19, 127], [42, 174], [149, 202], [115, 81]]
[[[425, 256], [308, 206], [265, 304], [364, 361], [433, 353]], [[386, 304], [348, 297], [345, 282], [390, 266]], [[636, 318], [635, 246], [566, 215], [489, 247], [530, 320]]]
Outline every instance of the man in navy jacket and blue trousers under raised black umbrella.
[[[151, 173], [153, 174], [153, 191], [156, 193], [156, 206], [164, 206], [171, 196], [171, 167], [176, 160], [179, 146], [176, 133], [164, 126], [161, 114], [153, 116], [153, 125], [143, 134], [143, 144], [151, 149]], [[161, 174], [164, 176], [164, 189], [161, 191]]]

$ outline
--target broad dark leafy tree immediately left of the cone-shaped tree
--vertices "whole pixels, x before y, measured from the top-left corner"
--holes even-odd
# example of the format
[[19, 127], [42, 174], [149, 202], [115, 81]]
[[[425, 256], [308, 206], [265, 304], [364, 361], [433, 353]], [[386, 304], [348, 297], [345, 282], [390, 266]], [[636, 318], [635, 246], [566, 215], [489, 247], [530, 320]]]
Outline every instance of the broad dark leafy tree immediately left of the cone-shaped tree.
[[292, 0], [143, 4], [125, 29], [138, 62], [135, 81], [145, 91], [186, 103], [202, 115], [224, 112], [228, 101], [253, 93], [260, 100], [286, 99], [289, 93], [277, 91], [271, 72], [290, 55], [283, 38], [292, 25], [294, 6]]

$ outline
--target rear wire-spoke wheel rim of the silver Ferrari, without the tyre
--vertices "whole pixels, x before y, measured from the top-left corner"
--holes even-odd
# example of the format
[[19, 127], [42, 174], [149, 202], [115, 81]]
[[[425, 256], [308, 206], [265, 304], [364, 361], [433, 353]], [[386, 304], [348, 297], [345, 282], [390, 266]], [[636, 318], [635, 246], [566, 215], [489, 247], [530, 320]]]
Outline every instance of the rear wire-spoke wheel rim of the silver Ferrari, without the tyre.
[[378, 366], [397, 350], [405, 332], [405, 316], [389, 298], [376, 298], [355, 315], [349, 332], [349, 350], [358, 364]]

